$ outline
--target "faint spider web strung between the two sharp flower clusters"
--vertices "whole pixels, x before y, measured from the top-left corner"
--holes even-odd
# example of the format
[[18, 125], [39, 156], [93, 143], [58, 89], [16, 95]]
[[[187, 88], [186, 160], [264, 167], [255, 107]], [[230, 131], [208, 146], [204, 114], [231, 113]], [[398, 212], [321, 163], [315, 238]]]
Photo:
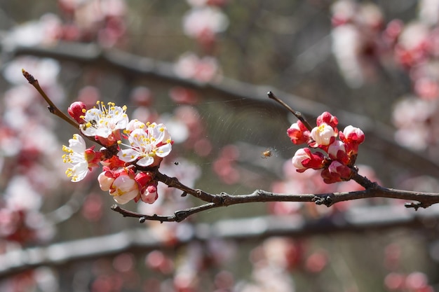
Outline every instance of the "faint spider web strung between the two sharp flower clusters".
[[[158, 110], [167, 109], [172, 116], [180, 106], [169, 102], [158, 106]], [[283, 177], [283, 164], [295, 151], [286, 134], [290, 121], [285, 111], [250, 98], [205, 98], [185, 106], [194, 110], [203, 127], [198, 139], [207, 139], [211, 146], [208, 155], [197, 155], [196, 149], [185, 150], [187, 141], [173, 146], [175, 153], [182, 153], [182, 157], [200, 167], [202, 176], [197, 187], [199, 184], [211, 193], [251, 193], [259, 188], [269, 190], [273, 181]], [[170, 133], [173, 134], [172, 128]], [[267, 150], [271, 155], [262, 154]], [[218, 175], [225, 168], [221, 169], [221, 163], [233, 172], [224, 174], [225, 179]]]

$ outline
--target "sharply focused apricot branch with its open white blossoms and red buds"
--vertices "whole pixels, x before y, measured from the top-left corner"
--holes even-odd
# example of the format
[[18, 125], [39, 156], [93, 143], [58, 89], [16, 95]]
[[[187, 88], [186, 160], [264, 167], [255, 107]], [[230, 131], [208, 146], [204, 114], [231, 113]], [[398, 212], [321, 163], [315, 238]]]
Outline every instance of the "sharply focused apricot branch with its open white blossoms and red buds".
[[[205, 204], [196, 207], [177, 210], [169, 216], [139, 214], [118, 205], [112, 207], [114, 211], [123, 216], [139, 218], [140, 223], [147, 220], [180, 222], [208, 209], [251, 202], [314, 202], [330, 207], [337, 202], [347, 200], [387, 197], [413, 201], [406, 204], [406, 207], [414, 209], [426, 208], [439, 202], [438, 193], [384, 188], [365, 176], [361, 176], [358, 174], [355, 162], [358, 146], [363, 143], [365, 137], [362, 130], [348, 126], [343, 132], [339, 131], [337, 118], [328, 112], [318, 116], [317, 126], [312, 128], [303, 118], [302, 113], [293, 111], [272, 92], [269, 92], [269, 97], [283, 104], [299, 119], [288, 129], [288, 137], [294, 144], [307, 144], [309, 146], [309, 148], [299, 149], [292, 158], [297, 172], [304, 172], [309, 168], [321, 169], [321, 176], [325, 183], [352, 179], [363, 186], [365, 190], [320, 194], [288, 194], [255, 190], [247, 195], [229, 195], [227, 193], [211, 194], [203, 190], [189, 188], [177, 178], [158, 171], [163, 157], [170, 153], [173, 145], [165, 125], [144, 124], [138, 120], [129, 120], [126, 106], [116, 106], [112, 102], [107, 105], [104, 105], [103, 102], [97, 102], [98, 107], [93, 107], [93, 109], [86, 109], [83, 104], [71, 106], [69, 114], [78, 122], [75, 123], [53, 104], [31, 74], [25, 70], [22, 73], [46, 100], [51, 113], [73, 125], [91, 141], [104, 146], [101, 151], [94, 151], [93, 147], [86, 148], [85, 141], [79, 134], [74, 134], [73, 139], [69, 140], [69, 146], [63, 146], [63, 150], [67, 152], [64, 160], [72, 166], [67, 169], [66, 173], [72, 177], [72, 181], [81, 181], [92, 167], [98, 167], [102, 162], [103, 172], [98, 176], [100, 188], [104, 191], [108, 190], [119, 204], [125, 204], [130, 200], [154, 203], [158, 197], [158, 182], [164, 183], [170, 188], [182, 190], [182, 196], [189, 194], [205, 202]], [[123, 138], [128, 140], [129, 144], [123, 142], [122, 131]]]

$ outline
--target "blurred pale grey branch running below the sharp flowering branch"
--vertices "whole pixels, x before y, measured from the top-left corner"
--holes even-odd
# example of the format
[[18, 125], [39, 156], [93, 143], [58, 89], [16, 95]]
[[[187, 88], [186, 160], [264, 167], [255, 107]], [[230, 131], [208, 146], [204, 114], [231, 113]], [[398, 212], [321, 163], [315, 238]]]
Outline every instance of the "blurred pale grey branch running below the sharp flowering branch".
[[[439, 206], [439, 205], [437, 205]], [[367, 232], [391, 228], [424, 228], [437, 221], [439, 208], [431, 207], [421, 213], [395, 206], [351, 207], [318, 219], [305, 220], [302, 216], [260, 216], [218, 221], [196, 225], [175, 225], [184, 232], [173, 232], [176, 244], [169, 246], [166, 238], [158, 238], [153, 230], [135, 228], [111, 235], [60, 242], [48, 246], [8, 251], [0, 255], [0, 278], [32, 270], [35, 267], [59, 267], [78, 261], [130, 251], [144, 253], [152, 249], [175, 249], [192, 241], [260, 240], [271, 236], [310, 237], [338, 232]]]

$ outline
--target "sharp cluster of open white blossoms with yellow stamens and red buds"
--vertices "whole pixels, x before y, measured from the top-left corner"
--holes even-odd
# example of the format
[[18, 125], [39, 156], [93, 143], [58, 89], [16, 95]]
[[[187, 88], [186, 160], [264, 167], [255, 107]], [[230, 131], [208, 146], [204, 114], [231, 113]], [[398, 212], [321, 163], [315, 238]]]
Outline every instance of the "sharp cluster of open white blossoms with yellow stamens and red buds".
[[129, 120], [126, 106], [111, 102], [107, 105], [97, 102], [93, 109], [74, 102], [68, 112], [79, 123], [83, 135], [93, 137], [104, 147], [100, 151], [94, 151], [94, 146], [86, 148], [84, 139], [74, 134], [69, 146], [62, 147], [67, 153], [62, 158], [69, 164], [67, 176], [72, 181], [81, 181], [100, 163], [103, 171], [97, 177], [99, 186], [109, 191], [116, 202], [155, 202], [158, 194], [153, 170], [160, 166], [173, 145], [166, 126]]

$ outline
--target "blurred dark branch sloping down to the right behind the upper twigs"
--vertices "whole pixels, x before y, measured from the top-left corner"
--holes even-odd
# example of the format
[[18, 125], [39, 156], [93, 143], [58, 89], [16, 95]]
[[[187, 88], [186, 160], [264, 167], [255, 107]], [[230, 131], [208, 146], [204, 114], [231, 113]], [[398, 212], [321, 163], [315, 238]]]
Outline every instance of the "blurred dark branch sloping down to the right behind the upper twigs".
[[[267, 110], [278, 109], [284, 111], [285, 115], [288, 113], [285, 108], [271, 102], [266, 97], [266, 92], [275, 91], [268, 86], [250, 85], [225, 77], [221, 81], [210, 83], [181, 78], [173, 71], [172, 63], [152, 60], [116, 49], [104, 50], [95, 44], [60, 42], [55, 46], [12, 46], [8, 48], [2, 47], [0, 44], [0, 48], [4, 51], [4, 62], [13, 60], [14, 57], [20, 55], [50, 57], [60, 61], [112, 69], [131, 78], [149, 78], [159, 83], [166, 83], [169, 86], [180, 85], [198, 90], [202, 95], [227, 100], [240, 99], [240, 102], [259, 102]], [[330, 111], [346, 124], [355, 122], [356, 127], [360, 127], [367, 137], [365, 147], [370, 148], [372, 151], [379, 151], [386, 158], [398, 161], [419, 174], [439, 176], [438, 162], [428, 159], [422, 153], [417, 153], [396, 144], [393, 140], [393, 130], [383, 123], [360, 116], [357, 113], [331, 108], [287, 92], [276, 90], [276, 95], [282, 97], [288, 104], [292, 104], [304, 116], [318, 116], [323, 111]]]

